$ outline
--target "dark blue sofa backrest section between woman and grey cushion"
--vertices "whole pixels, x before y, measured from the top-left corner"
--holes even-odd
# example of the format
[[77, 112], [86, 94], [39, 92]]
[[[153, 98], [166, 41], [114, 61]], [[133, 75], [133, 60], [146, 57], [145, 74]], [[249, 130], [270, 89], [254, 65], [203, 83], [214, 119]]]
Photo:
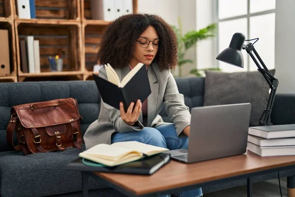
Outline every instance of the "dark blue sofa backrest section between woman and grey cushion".
[[[179, 77], [175, 78], [177, 88], [180, 94], [184, 96], [184, 103], [191, 110], [193, 107], [203, 106], [204, 97], [204, 78], [203, 77]], [[171, 120], [163, 104], [160, 111], [164, 122], [170, 123]]]

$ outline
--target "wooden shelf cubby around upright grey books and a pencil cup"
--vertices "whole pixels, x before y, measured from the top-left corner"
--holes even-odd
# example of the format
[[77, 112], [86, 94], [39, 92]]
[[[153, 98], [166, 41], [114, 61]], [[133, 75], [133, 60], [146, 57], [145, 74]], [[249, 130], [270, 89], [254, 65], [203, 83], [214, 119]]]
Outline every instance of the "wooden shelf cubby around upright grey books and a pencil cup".
[[[36, 76], [63, 76], [63, 73], [68, 72], [82, 74], [82, 30], [80, 22], [16, 19], [15, 30], [18, 73], [22, 79]], [[24, 73], [21, 69], [19, 41], [28, 35], [33, 35], [34, 40], [39, 40], [41, 73]], [[56, 55], [63, 59], [62, 72], [50, 72], [48, 57], [55, 57]]]

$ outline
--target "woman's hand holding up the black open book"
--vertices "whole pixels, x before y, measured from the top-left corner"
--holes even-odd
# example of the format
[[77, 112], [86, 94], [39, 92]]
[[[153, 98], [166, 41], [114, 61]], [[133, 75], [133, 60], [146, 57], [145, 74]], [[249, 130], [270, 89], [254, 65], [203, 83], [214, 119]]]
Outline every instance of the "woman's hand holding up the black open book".
[[[138, 99], [134, 109], [133, 109], [133, 106], [134, 106], [134, 102], [131, 102], [128, 109], [127, 109], [127, 112], [125, 112], [124, 107], [123, 107], [123, 103], [120, 102], [121, 118], [127, 125], [130, 125], [130, 126], [134, 126], [134, 124], [138, 120], [138, 117], [139, 117], [141, 109], [142, 109], [141, 108], [142, 103]], [[132, 109], [133, 109], [133, 111], [132, 111]]]

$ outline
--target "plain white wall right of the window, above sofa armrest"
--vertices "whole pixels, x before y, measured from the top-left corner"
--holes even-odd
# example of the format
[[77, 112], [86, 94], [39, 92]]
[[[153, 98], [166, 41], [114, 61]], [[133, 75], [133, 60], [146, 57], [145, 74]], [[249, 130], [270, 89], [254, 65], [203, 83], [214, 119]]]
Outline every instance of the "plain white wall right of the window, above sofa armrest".
[[275, 77], [277, 93], [295, 94], [295, 0], [276, 0]]

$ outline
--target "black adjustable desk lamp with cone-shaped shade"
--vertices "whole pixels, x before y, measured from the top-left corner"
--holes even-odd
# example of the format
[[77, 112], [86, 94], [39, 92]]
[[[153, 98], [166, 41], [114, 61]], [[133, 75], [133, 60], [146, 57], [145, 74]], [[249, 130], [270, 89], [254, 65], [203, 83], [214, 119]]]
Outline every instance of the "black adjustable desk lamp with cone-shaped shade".
[[[251, 40], [256, 40], [257, 42], [259, 38], [251, 39]], [[250, 41], [250, 40], [245, 40], [245, 35], [242, 33], [235, 33], [233, 35], [233, 38], [231, 40], [229, 48], [223, 50], [217, 57], [216, 59], [234, 66], [238, 67], [244, 67], [244, 60], [243, 56], [241, 53], [241, 49], [245, 49], [247, 53], [250, 55], [252, 60], [255, 62], [256, 66], [258, 67], [258, 71], [264, 76], [266, 79], [267, 83], [269, 84], [269, 87], [271, 89], [269, 98], [267, 101], [267, 106], [266, 109], [264, 109], [264, 112], [259, 118], [259, 125], [260, 126], [266, 126], [268, 124], [268, 119], [271, 114], [271, 109], [275, 97], [275, 92], [278, 87], [279, 81], [270, 74], [269, 70], [267, 69], [266, 65], [258, 55], [257, 51], [254, 48], [255, 42], [252, 44], [251, 42], [248, 43], [247, 45], [244, 45], [244, 41]], [[257, 62], [256, 58], [252, 54], [252, 51], [254, 52], [255, 56], [263, 66], [263, 68], [259, 65]]]

